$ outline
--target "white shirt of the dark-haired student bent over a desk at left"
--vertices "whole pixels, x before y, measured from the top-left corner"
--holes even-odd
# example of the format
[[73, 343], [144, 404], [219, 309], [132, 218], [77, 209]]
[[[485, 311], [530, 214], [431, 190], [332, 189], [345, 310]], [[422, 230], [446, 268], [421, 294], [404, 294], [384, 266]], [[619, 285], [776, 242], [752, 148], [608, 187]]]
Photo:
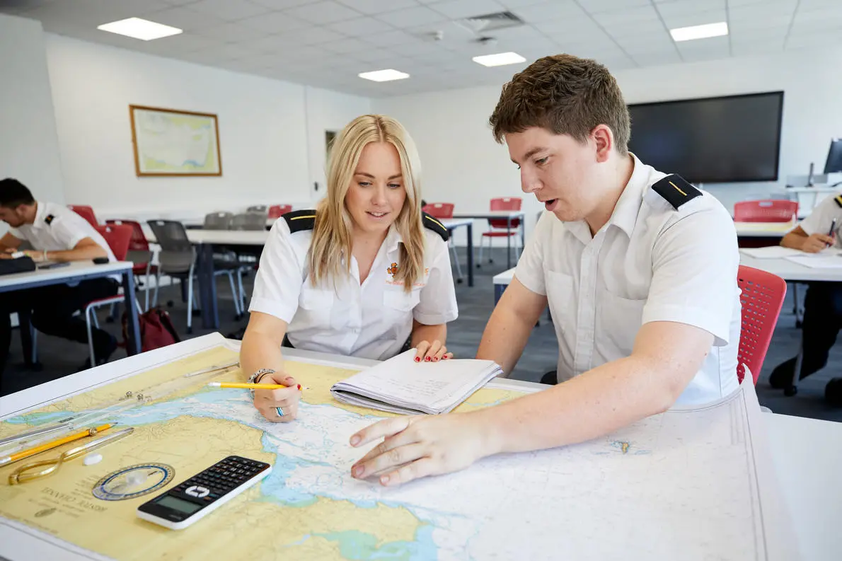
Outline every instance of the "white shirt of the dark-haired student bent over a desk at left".
[[25, 239], [37, 251], [69, 251], [91, 238], [108, 253], [109, 261], [117, 260], [105, 238], [82, 216], [56, 203], [38, 201], [37, 205], [34, 222], [8, 229], [15, 238]]

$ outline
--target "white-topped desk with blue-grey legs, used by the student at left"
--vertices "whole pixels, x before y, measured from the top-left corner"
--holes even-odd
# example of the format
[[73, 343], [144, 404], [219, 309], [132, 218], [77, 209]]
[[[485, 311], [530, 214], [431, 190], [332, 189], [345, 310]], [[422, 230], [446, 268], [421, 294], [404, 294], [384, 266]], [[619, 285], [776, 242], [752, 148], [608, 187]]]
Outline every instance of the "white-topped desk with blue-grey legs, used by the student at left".
[[[13, 273], [0, 276], [0, 292], [22, 291], [28, 288], [51, 285], [73, 285], [82, 280], [101, 279], [106, 276], [120, 275], [123, 277], [123, 294], [125, 295], [125, 311], [129, 314], [129, 346], [126, 351], [130, 355], [141, 352], [140, 324], [137, 319], [137, 304], [135, 295], [135, 275], [131, 269], [134, 266], [129, 261], [116, 263], [93, 264], [91, 261], [74, 261], [54, 269], [36, 269], [25, 273]], [[28, 366], [32, 362], [32, 339], [29, 329], [21, 329], [21, 339], [24, 346], [24, 361]]]

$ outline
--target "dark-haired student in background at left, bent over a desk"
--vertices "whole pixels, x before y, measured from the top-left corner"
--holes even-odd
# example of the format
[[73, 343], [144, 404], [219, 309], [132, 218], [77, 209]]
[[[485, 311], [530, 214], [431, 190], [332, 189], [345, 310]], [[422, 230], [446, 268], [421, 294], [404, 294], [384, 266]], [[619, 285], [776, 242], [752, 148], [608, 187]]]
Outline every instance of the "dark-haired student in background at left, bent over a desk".
[[[51, 202], [35, 200], [17, 179], [0, 181], [0, 220], [11, 228], [0, 239], [0, 259], [25, 241], [32, 246], [24, 253], [37, 261], [88, 261], [107, 257], [115, 261], [108, 243], [82, 216]], [[0, 293], [0, 370], [6, 364], [12, 328], [9, 313], [31, 310], [32, 324], [41, 333], [88, 343], [88, 328], [74, 313], [88, 302], [117, 294], [115, 279], [89, 279], [76, 285], [53, 285], [24, 291]], [[93, 353], [97, 364], [108, 361], [117, 339], [103, 329], [93, 328]], [[90, 359], [83, 368], [89, 368]]]

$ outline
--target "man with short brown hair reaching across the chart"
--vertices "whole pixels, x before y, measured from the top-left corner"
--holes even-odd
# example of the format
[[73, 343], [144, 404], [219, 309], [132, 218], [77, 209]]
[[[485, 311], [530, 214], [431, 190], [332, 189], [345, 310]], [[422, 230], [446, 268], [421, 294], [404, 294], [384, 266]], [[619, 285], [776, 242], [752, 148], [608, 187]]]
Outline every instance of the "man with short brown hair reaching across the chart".
[[711, 195], [627, 152], [620, 88], [594, 61], [547, 56], [516, 74], [491, 116], [546, 206], [477, 358], [514, 368], [549, 303], [559, 382], [469, 414], [398, 417], [352, 467], [401, 484], [500, 452], [564, 446], [738, 388], [737, 235]]

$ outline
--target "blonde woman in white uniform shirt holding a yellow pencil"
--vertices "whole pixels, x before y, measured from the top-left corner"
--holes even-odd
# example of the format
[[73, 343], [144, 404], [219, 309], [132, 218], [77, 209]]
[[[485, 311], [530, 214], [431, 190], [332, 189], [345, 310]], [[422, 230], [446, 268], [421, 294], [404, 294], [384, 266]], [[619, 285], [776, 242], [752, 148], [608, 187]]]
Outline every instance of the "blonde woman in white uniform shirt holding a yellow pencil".
[[333, 141], [328, 195], [272, 227], [260, 257], [240, 364], [270, 421], [295, 419], [300, 393], [284, 373], [281, 345], [384, 360], [450, 358], [456, 319], [447, 230], [424, 215], [420, 164], [396, 120], [363, 115]]

